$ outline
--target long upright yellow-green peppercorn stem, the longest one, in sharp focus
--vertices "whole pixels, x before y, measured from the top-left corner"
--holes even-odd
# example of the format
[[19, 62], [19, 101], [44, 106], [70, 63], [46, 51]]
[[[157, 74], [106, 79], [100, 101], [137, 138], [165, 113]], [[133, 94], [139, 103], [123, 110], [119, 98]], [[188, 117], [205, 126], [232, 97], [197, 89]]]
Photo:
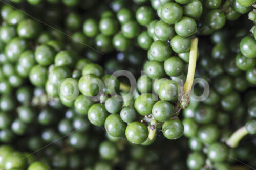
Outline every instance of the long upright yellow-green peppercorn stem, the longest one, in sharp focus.
[[198, 46], [198, 38], [194, 38], [191, 41], [187, 79], [183, 87], [184, 94], [188, 94], [188, 95], [191, 91], [191, 87], [193, 85], [193, 80], [195, 76], [195, 70], [196, 70], [196, 64], [197, 64], [197, 46]]

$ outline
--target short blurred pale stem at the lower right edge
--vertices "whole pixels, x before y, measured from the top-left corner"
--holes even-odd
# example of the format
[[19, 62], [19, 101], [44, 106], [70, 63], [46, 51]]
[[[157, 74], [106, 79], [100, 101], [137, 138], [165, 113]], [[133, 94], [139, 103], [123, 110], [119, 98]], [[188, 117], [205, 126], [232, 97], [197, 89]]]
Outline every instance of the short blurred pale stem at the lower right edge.
[[236, 132], [234, 132], [227, 140], [226, 144], [231, 148], [236, 148], [239, 144], [239, 141], [248, 134], [245, 126], [239, 128]]

